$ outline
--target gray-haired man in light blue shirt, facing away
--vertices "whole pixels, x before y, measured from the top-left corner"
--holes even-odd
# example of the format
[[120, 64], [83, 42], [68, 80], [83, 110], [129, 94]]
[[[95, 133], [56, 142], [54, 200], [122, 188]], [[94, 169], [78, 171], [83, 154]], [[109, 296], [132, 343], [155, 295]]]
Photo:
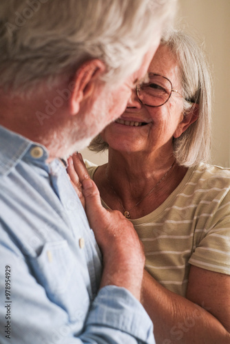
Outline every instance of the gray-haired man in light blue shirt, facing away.
[[87, 219], [59, 158], [123, 112], [175, 1], [1, 1], [1, 343], [154, 343], [133, 226], [80, 171]]

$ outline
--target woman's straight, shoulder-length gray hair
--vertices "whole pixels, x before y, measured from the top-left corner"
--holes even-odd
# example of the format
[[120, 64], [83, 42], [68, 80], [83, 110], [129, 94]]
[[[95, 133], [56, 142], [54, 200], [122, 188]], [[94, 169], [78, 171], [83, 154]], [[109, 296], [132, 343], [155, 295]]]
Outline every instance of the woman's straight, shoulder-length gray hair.
[[[209, 162], [211, 149], [211, 76], [209, 65], [202, 48], [189, 34], [172, 30], [161, 40], [167, 45], [178, 61], [184, 97], [184, 116], [198, 104], [198, 120], [173, 139], [174, 156], [182, 166], [196, 166]], [[105, 151], [108, 144], [100, 135], [92, 140], [89, 149]]]

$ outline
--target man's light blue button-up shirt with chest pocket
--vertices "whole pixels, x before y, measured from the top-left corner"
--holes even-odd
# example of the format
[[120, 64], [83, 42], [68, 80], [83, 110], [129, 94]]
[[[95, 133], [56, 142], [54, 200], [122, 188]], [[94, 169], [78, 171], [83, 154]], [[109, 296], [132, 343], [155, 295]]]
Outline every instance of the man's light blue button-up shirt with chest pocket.
[[101, 252], [65, 166], [0, 127], [0, 343], [155, 343], [125, 288], [98, 292]]

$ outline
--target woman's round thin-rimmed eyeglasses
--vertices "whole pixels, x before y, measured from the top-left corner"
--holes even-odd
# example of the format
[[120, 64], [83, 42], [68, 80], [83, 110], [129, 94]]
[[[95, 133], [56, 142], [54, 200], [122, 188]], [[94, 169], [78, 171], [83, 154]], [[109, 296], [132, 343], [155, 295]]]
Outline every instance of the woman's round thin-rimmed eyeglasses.
[[171, 93], [176, 92], [181, 97], [182, 95], [172, 88], [171, 81], [160, 74], [149, 74], [149, 82], [136, 86], [136, 94], [140, 103], [149, 107], [161, 107], [171, 97]]

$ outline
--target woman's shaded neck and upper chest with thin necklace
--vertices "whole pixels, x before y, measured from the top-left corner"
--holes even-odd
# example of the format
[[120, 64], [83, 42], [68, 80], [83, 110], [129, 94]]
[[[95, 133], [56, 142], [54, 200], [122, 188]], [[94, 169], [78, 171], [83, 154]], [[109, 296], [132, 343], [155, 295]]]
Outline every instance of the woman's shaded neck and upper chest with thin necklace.
[[109, 150], [109, 162], [94, 175], [102, 199], [112, 209], [130, 211], [137, 218], [154, 211], [170, 195], [187, 169], [174, 156], [155, 158], [143, 153]]

